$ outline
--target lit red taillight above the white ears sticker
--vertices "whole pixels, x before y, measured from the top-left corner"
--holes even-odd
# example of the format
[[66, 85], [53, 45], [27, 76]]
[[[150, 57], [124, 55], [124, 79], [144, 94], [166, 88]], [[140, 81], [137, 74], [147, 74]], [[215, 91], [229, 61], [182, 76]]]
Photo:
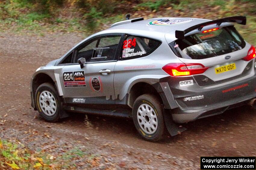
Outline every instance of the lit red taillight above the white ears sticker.
[[169, 63], [162, 69], [171, 76], [191, 76], [204, 73], [209, 67], [192, 63]]

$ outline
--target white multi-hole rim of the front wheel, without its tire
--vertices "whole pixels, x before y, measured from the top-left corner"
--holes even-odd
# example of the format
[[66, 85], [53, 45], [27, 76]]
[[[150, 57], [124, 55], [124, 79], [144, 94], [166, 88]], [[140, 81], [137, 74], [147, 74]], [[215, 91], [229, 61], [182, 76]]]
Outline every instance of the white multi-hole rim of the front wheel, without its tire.
[[47, 90], [43, 91], [39, 96], [39, 103], [42, 112], [47, 116], [55, 114], [57, 109], [57, 102], [53, 94]]

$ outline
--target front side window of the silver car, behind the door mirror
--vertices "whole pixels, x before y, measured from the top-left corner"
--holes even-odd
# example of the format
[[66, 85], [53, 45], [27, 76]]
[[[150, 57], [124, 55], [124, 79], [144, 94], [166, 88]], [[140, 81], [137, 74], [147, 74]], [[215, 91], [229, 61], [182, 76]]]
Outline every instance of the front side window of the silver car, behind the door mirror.
[[121, 36], [104, 36], [92, 41], [76, 55], [75, 62], [78, 58], [84, 57], [86, 63], [95, 61], [111, 61], [114, 60], [117, 46]]

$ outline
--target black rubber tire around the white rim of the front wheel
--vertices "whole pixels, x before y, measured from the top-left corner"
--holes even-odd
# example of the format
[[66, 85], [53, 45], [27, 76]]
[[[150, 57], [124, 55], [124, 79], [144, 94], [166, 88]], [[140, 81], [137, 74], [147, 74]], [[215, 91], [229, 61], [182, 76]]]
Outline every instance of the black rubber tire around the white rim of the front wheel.
[[[53, 115], [46, 115], [46, 113], [44, 113], [44, 111], [42, 110], [43, 108], [42, 108], [42, 104], [40, 104], [40, 102], [39, 102], [39, 98], [40, 98], [40, 94], [43, 91], [49, 91], [54, 96], [54, 100], [56, 101], [56, 103], [55, 103], [56, 111]], [[47, 82], [47, 83], [43, 83], [43, 84], [39, 85], [39, 87], [36, 90], [35, 101], [36, 101], [36, 109], [38, 110], [40, 116], [42, 116], [42, 118], [45, 121], [56, 122], [60, 119], [61, 98], [59, 97], [59, 95], [56, 92], [56, 89], [55, 89], [54, 85], [52, 85], [52, 83]]]

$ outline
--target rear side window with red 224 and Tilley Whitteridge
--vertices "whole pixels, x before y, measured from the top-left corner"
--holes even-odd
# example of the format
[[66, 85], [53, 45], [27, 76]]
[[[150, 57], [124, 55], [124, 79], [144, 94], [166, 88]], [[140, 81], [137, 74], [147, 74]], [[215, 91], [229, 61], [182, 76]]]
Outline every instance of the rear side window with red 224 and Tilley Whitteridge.
[[123, 41], [122, 59], [139, 58], [149, 55], [161, 44], [158, 40], [129, 35]]

